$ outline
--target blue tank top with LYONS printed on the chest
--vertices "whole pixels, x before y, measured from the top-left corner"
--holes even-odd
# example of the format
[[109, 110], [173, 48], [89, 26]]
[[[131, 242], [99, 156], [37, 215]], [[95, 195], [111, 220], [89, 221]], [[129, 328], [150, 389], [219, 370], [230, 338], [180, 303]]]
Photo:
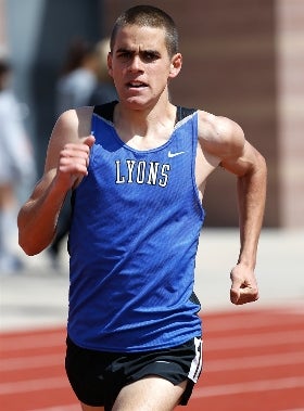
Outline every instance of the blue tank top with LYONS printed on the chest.
[[198, 113], [177, 107], [169, 140], [138, 151], [117, 136], [114, 105], [94, 108], [88, 176], [73, 193], [67, 331], [89, 349], [173, 347], [201, 335]]

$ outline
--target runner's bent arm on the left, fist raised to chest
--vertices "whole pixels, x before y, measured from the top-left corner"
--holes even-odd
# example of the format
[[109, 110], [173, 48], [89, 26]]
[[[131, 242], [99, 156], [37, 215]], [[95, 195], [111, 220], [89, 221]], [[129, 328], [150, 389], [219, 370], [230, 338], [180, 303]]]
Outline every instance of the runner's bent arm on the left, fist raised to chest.
[[87, 175], [94, 141], [89, 136], [90, 117], [89, 108], [69, 111], [54, 126], [43, 176], [18, 214], [18, 241], [28, 255], [40, 253], [51, 243], [67, 192]]

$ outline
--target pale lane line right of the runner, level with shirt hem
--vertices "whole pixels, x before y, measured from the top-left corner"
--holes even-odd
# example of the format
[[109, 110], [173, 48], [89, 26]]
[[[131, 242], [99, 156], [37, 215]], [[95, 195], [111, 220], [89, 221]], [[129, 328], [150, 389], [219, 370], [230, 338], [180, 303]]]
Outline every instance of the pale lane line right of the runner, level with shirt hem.
[[258, 333], [238, 336], [208, 337], [204, 336], [205, 349], [208, 351], [227, 350], [229, 348], [267, 347], [286, 344], [304, 343], [304, 331], [283, 331]]

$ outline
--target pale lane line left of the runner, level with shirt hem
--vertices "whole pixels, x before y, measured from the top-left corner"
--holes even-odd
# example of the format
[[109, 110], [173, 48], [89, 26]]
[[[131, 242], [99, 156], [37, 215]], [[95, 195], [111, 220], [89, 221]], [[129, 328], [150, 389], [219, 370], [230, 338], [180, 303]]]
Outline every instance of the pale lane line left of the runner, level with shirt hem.
[[65, 345], [64, 332], [54, 332], [52, 334], [46, 333], [45, 335], [24, 335], [15, 336], [13, 338], [1, 338], [0, 336], [0, 350], [13, 351], [25, 350], [30, 348], [45, 348], [45, 347], [59, 347]]

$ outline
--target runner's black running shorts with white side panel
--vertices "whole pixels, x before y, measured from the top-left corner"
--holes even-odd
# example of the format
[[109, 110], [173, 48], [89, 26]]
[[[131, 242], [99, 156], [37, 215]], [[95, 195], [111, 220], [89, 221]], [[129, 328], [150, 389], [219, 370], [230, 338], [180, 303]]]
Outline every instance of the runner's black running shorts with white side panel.
[[104, 352], [80, 348], [66, 339], [65, 369], [79, 401], [110, 411], [121, 389], [148, 375], [178, 385], [188, 380], [180, 404], [186, 406], [202, 370], [202, 341], [145, 352]]

